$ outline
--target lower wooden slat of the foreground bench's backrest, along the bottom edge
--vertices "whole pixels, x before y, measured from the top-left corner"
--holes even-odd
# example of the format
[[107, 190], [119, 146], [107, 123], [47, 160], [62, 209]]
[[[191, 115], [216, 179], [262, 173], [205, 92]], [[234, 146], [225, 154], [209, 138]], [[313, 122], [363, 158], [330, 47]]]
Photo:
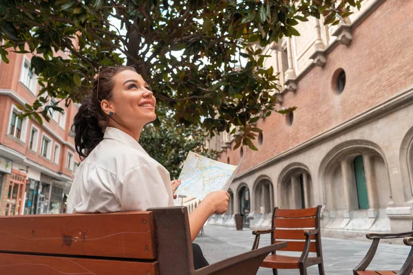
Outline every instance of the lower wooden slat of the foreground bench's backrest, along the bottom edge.
[[0, 253], [1, 274], [154, 275], [158, 262], [113, 261]]

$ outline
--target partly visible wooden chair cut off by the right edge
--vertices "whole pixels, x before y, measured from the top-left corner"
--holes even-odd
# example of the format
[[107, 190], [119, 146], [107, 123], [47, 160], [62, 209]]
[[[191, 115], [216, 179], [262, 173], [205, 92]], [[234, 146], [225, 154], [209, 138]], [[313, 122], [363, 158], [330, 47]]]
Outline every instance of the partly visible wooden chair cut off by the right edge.
[[[403, 232], [399, 234], [377, 234], [377, 233], [368, 233], [366, 234], [367, 239], [372, 240], [372, 245], [370, 246], [370, 249], [368, 250], [366, 256], [364, 257], [363, 261], [359, 263], [359, 265], [354, 268], [353, 274], [354, 275], [413, 275], [413, 231], [410, 232]], [[403, 243], [405, 245], [409, 245], [412, 248], [410, 248], [410, 253], [407, 255], [407, 259], [405, 260], [405, 263], [401, 267], [401, 270], [396, 270], [396, 271], [376, 271], [376, 270], [366, 270], [368, 265], [370, 265], [374, 254], [376, 254], [377, 247], [379, 246], [379, 241], [381, 239], [403, 239]]]

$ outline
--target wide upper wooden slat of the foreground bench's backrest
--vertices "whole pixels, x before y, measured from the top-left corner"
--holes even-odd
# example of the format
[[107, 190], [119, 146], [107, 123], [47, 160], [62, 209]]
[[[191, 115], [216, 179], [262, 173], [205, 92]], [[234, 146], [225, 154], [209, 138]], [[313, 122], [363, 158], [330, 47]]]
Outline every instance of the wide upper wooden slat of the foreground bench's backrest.
[[155, 259], [153, 213], [0, 217], [0, 251]]

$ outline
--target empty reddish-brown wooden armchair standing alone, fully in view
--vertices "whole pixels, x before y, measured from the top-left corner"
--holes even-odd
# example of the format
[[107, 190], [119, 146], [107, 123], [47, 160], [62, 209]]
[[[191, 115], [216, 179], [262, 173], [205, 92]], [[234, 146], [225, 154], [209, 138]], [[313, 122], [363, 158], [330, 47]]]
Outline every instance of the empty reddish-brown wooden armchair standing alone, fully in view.
[[[261, 266], [272, 268], [275, 275], [279, 269], [297, 269], [299, 274], [306, 275], [308, 266], [318, 265], [319, 274], [324, 275], [320, 211], [321, 206], [306, 209], [275, 208], [272, 229], [253, 231], [253, 250], [258, 248], [261, 234], [271, 233], [271, 244], [288, 240], [288, 246], [280, 250], [301, 252], [301, 256], [279, 255], [274, 251], [264, 259]], [[315, 252], [315, 255], [309, 256], [310, 252]]]

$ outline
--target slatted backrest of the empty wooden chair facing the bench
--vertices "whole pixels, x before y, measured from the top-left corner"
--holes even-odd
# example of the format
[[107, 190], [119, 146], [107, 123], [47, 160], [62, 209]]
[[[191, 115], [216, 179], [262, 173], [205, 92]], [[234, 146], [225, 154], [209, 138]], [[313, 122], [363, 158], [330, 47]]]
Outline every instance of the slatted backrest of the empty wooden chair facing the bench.
[[[320, 228], [321, 206], [305, 209], [279, 209], [273, 212], [273, 227], [271, 233], [273, 243], [287, 241], [285, 251], [302, 252], [306, 241], [304, 230], [315, 230]], [[311, 236], [310, 252], [321, 252], [320, 234]]]

